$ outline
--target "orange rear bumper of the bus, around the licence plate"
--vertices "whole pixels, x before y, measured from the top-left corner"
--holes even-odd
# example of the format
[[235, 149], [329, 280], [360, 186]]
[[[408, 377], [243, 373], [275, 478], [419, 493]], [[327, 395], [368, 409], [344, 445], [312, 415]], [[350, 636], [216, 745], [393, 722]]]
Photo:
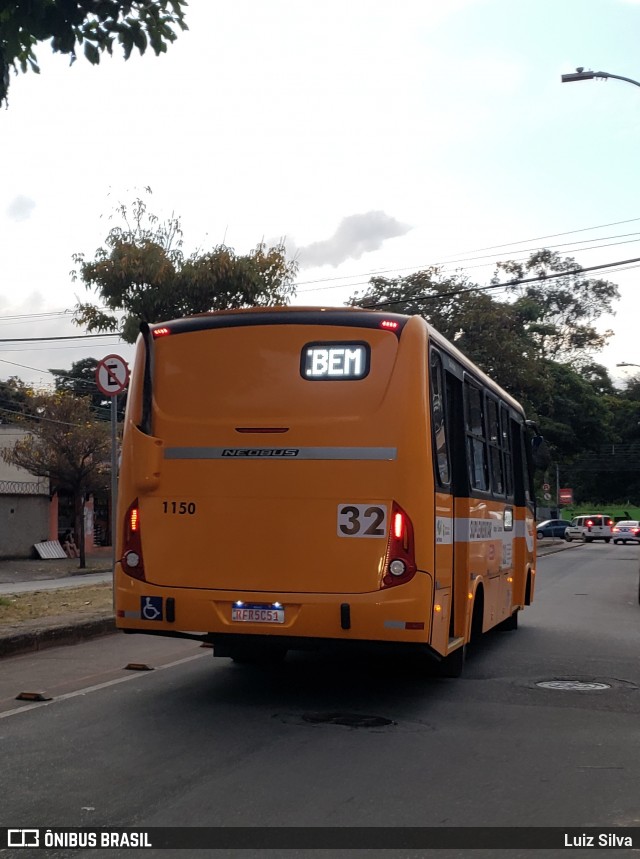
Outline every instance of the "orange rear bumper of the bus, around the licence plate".
[[[233, 620], [238, 601], [280, 603], [284, 622]], [[266, 636], [282, 638], [283, 643], [320, 639], [428, 644], [433, 583], [428, 573], [418, 572], [404, 585], [364, 594], [230, 592], [160, 588], [130, 578], [118, 565], [115, 607], [119, 629], [204, 641]]]

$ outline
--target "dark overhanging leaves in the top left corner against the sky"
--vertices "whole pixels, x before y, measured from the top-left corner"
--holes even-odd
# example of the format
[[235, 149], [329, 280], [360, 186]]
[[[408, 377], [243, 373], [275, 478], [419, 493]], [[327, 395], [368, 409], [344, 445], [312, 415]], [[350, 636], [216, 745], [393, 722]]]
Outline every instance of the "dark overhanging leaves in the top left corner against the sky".
[[0, 3], [0, 104], [6, 102], [10, 69], [40, 72], [34, 48], [50, 41], [54, 52], [76, 59], [79, 46], [94, 65], [117, 43], [129, 59], [147, 47], [164, 53], [186, 30], [186, 0], [22, 0]]

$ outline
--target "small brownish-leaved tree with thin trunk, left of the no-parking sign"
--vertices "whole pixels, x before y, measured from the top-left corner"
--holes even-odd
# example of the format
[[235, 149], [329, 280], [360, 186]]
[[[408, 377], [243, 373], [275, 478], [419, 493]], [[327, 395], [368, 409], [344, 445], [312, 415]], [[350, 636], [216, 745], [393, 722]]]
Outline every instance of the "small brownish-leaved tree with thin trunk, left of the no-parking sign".
[[2, 456], [37, 477], [47, 477], [53, 490], [73, 495], [80, 567], [85, 567], [84, 500], [108, 486], [109, 426], [95, 420], [85, 397], [41, 394], [34, 397], [34, 405], [38, 419], [30, 425], [30, 435], [5, 448]]

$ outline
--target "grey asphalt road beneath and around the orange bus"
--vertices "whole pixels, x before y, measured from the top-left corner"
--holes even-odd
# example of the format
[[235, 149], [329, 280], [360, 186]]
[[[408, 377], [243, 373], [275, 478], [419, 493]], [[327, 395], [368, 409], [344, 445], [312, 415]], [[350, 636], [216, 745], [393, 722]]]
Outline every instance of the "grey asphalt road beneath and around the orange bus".
[[[640, 826], [637, 588], [635, 546], [542, 558], [520, 629], [487, 636], [457, 680], [313, 654], [262, 671], [194, 643], [123, 635], [3, 660], [0, 753], [11, 789], [2, 818], [42, 827]], [[155, 670], [125, 670], [128, 662]], [[573, 688], [538, 685], [547, 681]], [[53, 700], [15, 700], [29, 689]]]

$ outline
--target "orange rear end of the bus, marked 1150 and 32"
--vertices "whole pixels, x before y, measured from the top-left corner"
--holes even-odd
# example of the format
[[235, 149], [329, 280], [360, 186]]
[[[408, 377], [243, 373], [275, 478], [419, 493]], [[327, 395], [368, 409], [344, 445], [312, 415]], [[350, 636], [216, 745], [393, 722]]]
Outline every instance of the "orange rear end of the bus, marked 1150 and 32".
[[422, 320], [357, 310], [145, 331], [123, 440], [118, 627], [202, 637], [216, 655], [428, 644], [425, 355]]

